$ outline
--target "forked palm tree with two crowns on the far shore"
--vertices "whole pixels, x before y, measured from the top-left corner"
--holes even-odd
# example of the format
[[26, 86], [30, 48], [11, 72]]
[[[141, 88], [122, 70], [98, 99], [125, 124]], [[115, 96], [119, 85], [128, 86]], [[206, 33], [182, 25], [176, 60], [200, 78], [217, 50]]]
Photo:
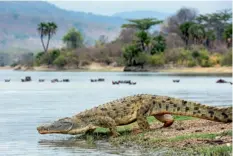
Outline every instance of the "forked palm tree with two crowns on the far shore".
[[[57, 25], [54, 22], [48, 22], [48, 23], [41, 22], [40, 24], [38, 24], [37, 30], [40, 33], [40, 39], [42, 46], [44, 48], [44, 52], [47, 52], [50, 39], [57, 31]], [[44, 36], [48, 36], [46, 46], [44, 44]]]

